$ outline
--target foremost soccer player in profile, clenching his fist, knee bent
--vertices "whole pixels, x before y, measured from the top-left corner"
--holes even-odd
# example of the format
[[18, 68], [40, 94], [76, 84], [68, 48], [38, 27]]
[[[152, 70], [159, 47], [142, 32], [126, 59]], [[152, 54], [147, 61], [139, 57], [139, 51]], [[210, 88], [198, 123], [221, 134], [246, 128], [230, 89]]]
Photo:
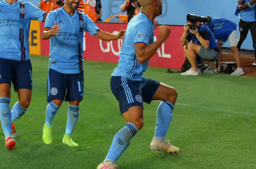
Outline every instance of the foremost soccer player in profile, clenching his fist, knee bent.
[[119, 101], [120, 112], [127, 124], [113, 138], [108, 155], [97, 169], [118, 168], [116, 160], [127, 149], [130, 141], [143, 127], [143, 101], [162, 100], [157, 108], [157, 125], [150, 148], [154, 151], [179, 152], [180, 149], [165, 139], [172, 121], [172, 112], [177, 99], [173, 87], [150, 78], [143, 78], [148, 60], [168, 38], [170, 29], [159, 27], [159, 38], [154, 42], [154, 19], [161, 15], [161, 0], [140, 0], [141, 12], [133, 17], [119, 55], [118, 67], [112, 73], [111, 91]]

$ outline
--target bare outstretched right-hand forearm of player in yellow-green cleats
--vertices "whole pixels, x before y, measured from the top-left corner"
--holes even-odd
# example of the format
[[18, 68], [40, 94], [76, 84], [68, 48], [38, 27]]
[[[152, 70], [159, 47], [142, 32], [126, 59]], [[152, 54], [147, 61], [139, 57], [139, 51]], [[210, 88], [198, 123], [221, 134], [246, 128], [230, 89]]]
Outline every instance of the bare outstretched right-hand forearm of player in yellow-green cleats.
[[95, 36], [100, 38], [100, 40], [118, 40], [124, 38], [125, 30], [121, 29], [118, 34], [108, 33], [105, 31], [99, 31]]

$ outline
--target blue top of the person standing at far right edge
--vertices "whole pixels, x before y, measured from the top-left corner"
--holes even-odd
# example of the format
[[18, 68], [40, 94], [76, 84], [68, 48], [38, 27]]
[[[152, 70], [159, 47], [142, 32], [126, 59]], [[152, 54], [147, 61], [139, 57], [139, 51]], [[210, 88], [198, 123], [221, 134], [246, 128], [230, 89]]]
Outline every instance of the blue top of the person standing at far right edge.
[[[237, 1], [241, 1], [241, 0], [237, 0]], [[245, 0], [244, 4], [247, 4], [250, 1], [251, 0]], [[241, 18], [241, 20], [246, 22], [255, 21], [255, 4], [252, 4], [248, 8], [241, 10], [239, 13], [239, 18]]]

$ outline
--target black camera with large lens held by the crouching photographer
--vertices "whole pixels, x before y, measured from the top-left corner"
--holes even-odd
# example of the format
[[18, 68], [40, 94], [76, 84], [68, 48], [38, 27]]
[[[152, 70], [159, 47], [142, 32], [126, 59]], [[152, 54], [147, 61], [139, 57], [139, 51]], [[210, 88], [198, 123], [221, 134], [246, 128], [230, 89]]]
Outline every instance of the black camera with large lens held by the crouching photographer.
[[189, 24], [189, 29], [191, 30], [195, 30], [196, 29], [196, 22], [204, 22], [204, 24], [211, 24], [212, 21], [212, 17], [208, 16], [208, 17], [201, 17], [198, 15], [194, 15], [194, 14], [188, 14], [187, 15], [187, 20], [192, 22], [192, 24]]

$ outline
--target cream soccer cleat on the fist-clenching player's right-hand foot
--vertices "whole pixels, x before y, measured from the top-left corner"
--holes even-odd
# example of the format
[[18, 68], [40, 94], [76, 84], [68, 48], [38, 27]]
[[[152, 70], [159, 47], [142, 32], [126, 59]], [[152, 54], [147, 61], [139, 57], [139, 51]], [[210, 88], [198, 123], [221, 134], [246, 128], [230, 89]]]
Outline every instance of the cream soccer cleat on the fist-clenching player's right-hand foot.
[[153, 151], [163, 151], [163, 152], [179, 152], [180, 149], [169, 143], [169, 140], [165, 142], [158, 142], [157, 140], [152, 140], [150, 143], [150, 149]]

